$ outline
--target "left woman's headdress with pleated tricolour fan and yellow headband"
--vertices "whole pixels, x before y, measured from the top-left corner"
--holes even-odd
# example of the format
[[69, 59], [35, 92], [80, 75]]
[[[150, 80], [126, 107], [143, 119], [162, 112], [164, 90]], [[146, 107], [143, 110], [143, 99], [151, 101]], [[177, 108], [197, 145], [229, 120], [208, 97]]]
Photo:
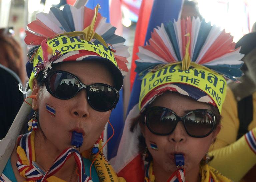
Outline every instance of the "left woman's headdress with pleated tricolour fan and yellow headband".
[[[38, 13], [36, 20], [27, 25], [25, 42], [34, 46], [28, 54], [33, 60], [29, 85], [41, 70], [63, 61], [104, 58], [117, 77], [118, 90], [123, 84], [120, 70], [128, 71], [128, 47], [125, 39], [115, 35], [116, 28], [106, 18], [87, 7], [79, 9], [65, 5], [63, 10], [51, 8], [49, 13]], [[110, 62], [109, 62], [110, 61]], [[112, 64], [110, 64], [112, 63]]]

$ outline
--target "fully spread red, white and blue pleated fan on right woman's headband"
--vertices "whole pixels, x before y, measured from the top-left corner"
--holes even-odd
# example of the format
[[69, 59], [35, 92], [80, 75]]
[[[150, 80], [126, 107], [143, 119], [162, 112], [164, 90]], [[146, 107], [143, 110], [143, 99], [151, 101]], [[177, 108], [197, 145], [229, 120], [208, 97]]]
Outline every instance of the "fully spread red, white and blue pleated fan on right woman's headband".
[[182, 62], [185, 69], [204, 66], [236, 81], [243, 74], [240, 67], [244, 55], [239, 51], [230, 33], [204, 19], [193, 17], [191, 21], [188, 17], [154, 29], [147, 45], [139, 48], [135, 71], [144, 76], [157, 65]]

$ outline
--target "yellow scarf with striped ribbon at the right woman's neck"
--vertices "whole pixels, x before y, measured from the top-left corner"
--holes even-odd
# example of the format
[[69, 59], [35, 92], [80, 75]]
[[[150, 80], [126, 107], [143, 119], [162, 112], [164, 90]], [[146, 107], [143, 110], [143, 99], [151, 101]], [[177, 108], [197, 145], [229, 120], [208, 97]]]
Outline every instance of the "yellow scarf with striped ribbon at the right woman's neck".
[[[202, 176], [201, 182], [232, 182], [232, 180], [223, 176], [216, 169], [211, 166], [203, 165], [200, 166], [200, 175]], [[185, 170], [178, 168], [167, 182], [185, 182]], [[145, 170], [145, 182], [155, 182], [155, 175], [153, 171], [153, 162], [148, 163]]]

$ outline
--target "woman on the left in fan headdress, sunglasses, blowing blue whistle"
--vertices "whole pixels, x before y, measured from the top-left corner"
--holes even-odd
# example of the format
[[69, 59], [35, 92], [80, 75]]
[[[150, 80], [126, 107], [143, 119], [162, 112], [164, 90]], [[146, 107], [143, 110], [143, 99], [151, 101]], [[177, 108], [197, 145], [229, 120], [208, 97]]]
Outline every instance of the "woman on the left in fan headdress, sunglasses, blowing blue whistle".
[[[3, 169], [0, 181], [124, 181], [117, 177], [103, 155], [102, 132], [118, 102], [123, 84], [119, 68], [126, 69], [126, 64], [120, 64], [126, 57], [118, 50], [121, 47], [123, 53], [127, 53], [127, 47], [123, 46], [125, 40], [114, 35], [113, 27], [97, 14], [98, 8], [97, 5], [95, 13], [85, 7], [78, 12], [65, 5], [63, 11], [53, 8], [51, 14], [40, 14], [38, 20], [28, 25], [37, 33], [29, 31], [25, 38], [28, 45], [35, 46], [29, 52], [30, 62], [27, 63], [28, 73], [32, 66], [29, 73], [31, 90], [25, 102], [31, 107], [27, 108], [28, 105], [23, 103], [16, 117], [19, 121], [14, 121], [1, 147], [5, 147], [10, 135], [17, 132], [16, 128], [23, 122], [27, 122], [29, 133], [18, 139], [16, 136], [11, 156], [6, 160], [8, 152], [5, 152], [5, 158], [0, 159], [2, 163], [7, 162], [0, 165]], [[80, 15], [82, 10], [85, 16], [80, 27], [84, 28], [82, 31], [72, 30], [70, 19]], [[67, 15], [69, 21], [60, 21], [59, 14]], [[44, 21], [43, 24], [40, 20], [41, 16], [45, 20], [53, 15], [59, 22]], [[56, 34], [60, 22], [62, 28], [67, 24], [73, 32], [65, 30], [51, 38], [41, 36]], [[95, 22], [98, 22], [97, 27], [94, 27]], [[57, 30], [47, 27], [47, 23]], [[41, 28], [33, 27], [36, 25]], [[98, 30], [105, 40], [116, 45], [116, 50], [106, 44], [102, 34], [94, 32], [98, 27], [101, 27]], [[53, 33], [47, 34], [47, 31]], [[29, 119], [22, 121], [26, 118]], [[6, 151], [9, 148], [7, 146]]]

